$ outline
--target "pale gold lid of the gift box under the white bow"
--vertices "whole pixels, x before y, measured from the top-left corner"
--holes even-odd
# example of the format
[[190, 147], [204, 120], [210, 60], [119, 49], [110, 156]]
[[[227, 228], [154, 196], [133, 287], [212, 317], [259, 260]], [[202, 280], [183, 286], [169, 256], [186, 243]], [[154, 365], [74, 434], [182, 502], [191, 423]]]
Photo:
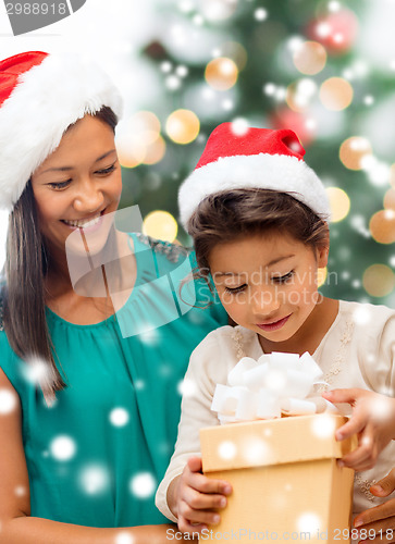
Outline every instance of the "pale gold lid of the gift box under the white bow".
[[346, 421], [319, 413], [201, 429], [203, 472], [341, 458], [357, 445], [356, 436], [335, 440]]

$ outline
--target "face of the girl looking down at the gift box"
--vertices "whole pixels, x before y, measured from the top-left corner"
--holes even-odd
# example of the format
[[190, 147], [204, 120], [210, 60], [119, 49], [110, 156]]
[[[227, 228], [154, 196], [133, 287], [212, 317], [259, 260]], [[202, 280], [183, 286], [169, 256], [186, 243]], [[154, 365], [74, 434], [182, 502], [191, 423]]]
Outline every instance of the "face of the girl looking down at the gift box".
[[209, 258], [229, 316], [270, 342], [286, 342], [303, 327], [318, 300], [317, 270], [326, 262], [328, 248], [275, 233], [219, 244]]

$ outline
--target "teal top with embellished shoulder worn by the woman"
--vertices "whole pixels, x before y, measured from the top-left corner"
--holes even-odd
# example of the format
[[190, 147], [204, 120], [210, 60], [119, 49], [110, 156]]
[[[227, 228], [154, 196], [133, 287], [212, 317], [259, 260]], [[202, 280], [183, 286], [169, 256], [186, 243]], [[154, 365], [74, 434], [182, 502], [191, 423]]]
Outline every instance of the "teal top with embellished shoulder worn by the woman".
[[22, 404], [32, 516], [102, 528], [168, 522], [153, 498], [174, 448], [183, 376], [226, 314], [220, 304], [202, 308], [211, 299], [203, 282], [180, 296], [193, 254], [132, 236], [137, 280], [115, 317], [77, 325], [47, 309], [67, 383], [52, 407], [0, 332], [0, 366]]

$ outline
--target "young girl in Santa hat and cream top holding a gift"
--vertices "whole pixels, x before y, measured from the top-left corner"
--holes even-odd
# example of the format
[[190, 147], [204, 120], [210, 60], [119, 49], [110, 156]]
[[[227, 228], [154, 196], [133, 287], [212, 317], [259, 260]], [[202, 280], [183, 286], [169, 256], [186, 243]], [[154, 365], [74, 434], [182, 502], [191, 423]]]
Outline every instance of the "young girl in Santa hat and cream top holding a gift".
[[[194, 238], [200, 273], [208, 281], [211, 276], [238, 324], [211, 332], [190, 358], [192, 393], [183, 398], [175, 453], [157, 493], [157, 506], [182, 531], [215, 524], [220, 515], [212, 509], [223, 508], [232, 492], [226, 482], [203, 477], [197, 457], [199, 429], [219, 424], [210, 410], [215, 385], [226, 384], [242, 357], [258, 359], [263, 353], [309, 351], [331, 387], [349, 388], [325, 397], [354, 406], [336, 436], [359, 436], [359, 447], [340, 461], [360, 471], [354, 511], [382, 502], [369, 487], [395, 458], [395, 400], [390, 398], [395, 312], [319, 295], [317, 272], [328, 262], [330, 210], [304, 152], [292, 131], [250, 128], [238, 135], [225, 123], [212, 133], [180, 190], [181, 218]], [[379, 518], [393, 514], [394, 507], [380, 510]], [[366, 520], [360, 516], [358, 521]]]

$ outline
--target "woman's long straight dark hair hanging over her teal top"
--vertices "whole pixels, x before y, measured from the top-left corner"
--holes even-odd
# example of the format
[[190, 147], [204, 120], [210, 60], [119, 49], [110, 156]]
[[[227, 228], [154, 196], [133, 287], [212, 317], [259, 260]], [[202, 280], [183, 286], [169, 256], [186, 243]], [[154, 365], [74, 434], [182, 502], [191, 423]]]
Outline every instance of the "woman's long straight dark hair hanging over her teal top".
[[[94, 116], [115, 131], [118, 118], [107, 106]], [[54, 361], [46, 320], [45, 276], [50, 265], [51, 256], [40, 233], [28, 181], [9, 220], [5, 284], [1, 289], [3, 325], [10, 346], [18, 357], [27, 363], [38, 359], [46, 364], [40, 386], [47, 401], [54, 398], [57, 391], [66, 387]]]

